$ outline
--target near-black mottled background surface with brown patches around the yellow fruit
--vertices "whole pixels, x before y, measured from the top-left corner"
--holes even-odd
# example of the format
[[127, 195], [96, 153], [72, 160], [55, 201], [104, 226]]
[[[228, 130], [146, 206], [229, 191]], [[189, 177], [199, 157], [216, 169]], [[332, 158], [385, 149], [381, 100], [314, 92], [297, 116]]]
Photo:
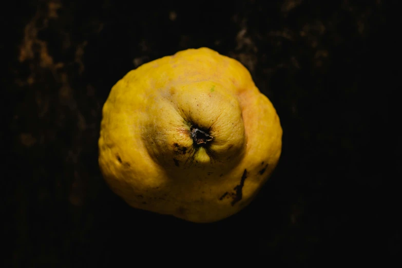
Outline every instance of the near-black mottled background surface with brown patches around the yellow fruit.
[[[399, 261], [400, 15], [391, 1], [7, 3], [3, 267], [114, 267], [146, 254], [148, 264]], [[259, 196], [212, 224], [129, 207], [97, 159], [113, 84], [202, 46], [241, 61], [283, 127], [280, 163]]]

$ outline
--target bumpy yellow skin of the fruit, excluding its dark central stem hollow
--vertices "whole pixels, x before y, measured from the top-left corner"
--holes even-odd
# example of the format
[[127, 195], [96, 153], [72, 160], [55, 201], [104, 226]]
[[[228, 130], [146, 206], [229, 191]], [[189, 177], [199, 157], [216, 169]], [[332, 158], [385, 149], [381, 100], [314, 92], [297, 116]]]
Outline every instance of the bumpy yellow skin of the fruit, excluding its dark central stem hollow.
[[[206, 136], [195, 128], [212, 141], [198, 146], [194, 133]], [[99, 166], [132, 207], [206, 223], [253, 200], [281, 146], [276, 110], [247, 69], [203, 47], [143, 64], [112, 87]]]

